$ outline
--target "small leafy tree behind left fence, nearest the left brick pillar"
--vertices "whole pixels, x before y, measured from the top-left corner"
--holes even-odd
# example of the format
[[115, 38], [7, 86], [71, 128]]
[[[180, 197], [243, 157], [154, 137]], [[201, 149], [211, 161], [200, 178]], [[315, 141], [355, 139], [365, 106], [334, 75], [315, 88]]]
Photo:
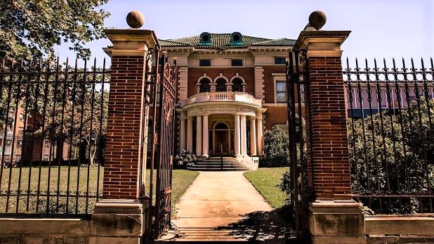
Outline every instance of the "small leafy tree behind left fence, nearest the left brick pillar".
[[76, 147], [86, 144], [86, 157], [93, 165], [98, 149], [105, 142], [108, 90], [101, 87], [100, 75], [77, 74], [78, 82], [67, 81], [67, 77], [58, 79], [61, 82], [51, 81], [39, 87], [42, 90], [37, 103], [27, 101], [30, 105], [37, 104], [31, 113], [41, 116], [37, 121], [40, 123], [37, 134], [56, 144], [58, 155], [61, 155], [63, 142]]

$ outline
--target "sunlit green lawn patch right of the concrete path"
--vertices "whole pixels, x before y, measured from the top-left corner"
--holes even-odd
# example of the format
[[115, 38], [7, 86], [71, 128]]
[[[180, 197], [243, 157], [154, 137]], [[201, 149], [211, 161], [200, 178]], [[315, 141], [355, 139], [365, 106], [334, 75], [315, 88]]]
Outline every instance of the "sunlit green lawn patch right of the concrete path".
[[285, 195], [278, 185], [284, 172], [289, 167], [281, 168], [259, 168], [255, 171], [245, 172], [244, 176], [249, 179], [251, 184], [262, 194], [262, 196], [272, 205], [273, 208], [281, 208], [285, 204]]

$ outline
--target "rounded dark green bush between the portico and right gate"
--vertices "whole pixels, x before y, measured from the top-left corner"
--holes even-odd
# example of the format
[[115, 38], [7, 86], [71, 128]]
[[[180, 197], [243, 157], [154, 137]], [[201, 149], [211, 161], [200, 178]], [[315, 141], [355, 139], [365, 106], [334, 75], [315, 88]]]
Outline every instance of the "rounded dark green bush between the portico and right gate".
[[289, 165], [288, 134], [277, 126], [265, 131], [264, 166], [278, 167]]

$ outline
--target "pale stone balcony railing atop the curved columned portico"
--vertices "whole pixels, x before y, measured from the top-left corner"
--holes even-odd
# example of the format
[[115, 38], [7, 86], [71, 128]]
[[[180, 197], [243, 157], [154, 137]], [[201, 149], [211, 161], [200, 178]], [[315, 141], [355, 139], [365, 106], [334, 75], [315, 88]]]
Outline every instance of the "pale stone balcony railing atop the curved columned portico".
[[206, 92], [197, 93], [188, 98], [188, 104], [197, 102], [223, 102], [223, 101], [233, 101], [233, 102], [246, 102], [251, 104], [261, 104], [261, 100], [255, 99], [254, 96], [248, 93], [239, 92]]

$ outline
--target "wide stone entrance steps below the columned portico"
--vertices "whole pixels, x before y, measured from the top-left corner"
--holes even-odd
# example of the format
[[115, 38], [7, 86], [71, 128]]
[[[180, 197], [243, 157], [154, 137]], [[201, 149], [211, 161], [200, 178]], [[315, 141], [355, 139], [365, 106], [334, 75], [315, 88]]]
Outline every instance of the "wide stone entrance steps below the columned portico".
[[197, 171], [249, 171], [251, 168], [246, 167], [244, 163], [239, 162], [237, 158], [223, 157], [223, 168], [220, 157], [204, 158], [197, 161], [195, 165], [187, 168], [188, 170]]

